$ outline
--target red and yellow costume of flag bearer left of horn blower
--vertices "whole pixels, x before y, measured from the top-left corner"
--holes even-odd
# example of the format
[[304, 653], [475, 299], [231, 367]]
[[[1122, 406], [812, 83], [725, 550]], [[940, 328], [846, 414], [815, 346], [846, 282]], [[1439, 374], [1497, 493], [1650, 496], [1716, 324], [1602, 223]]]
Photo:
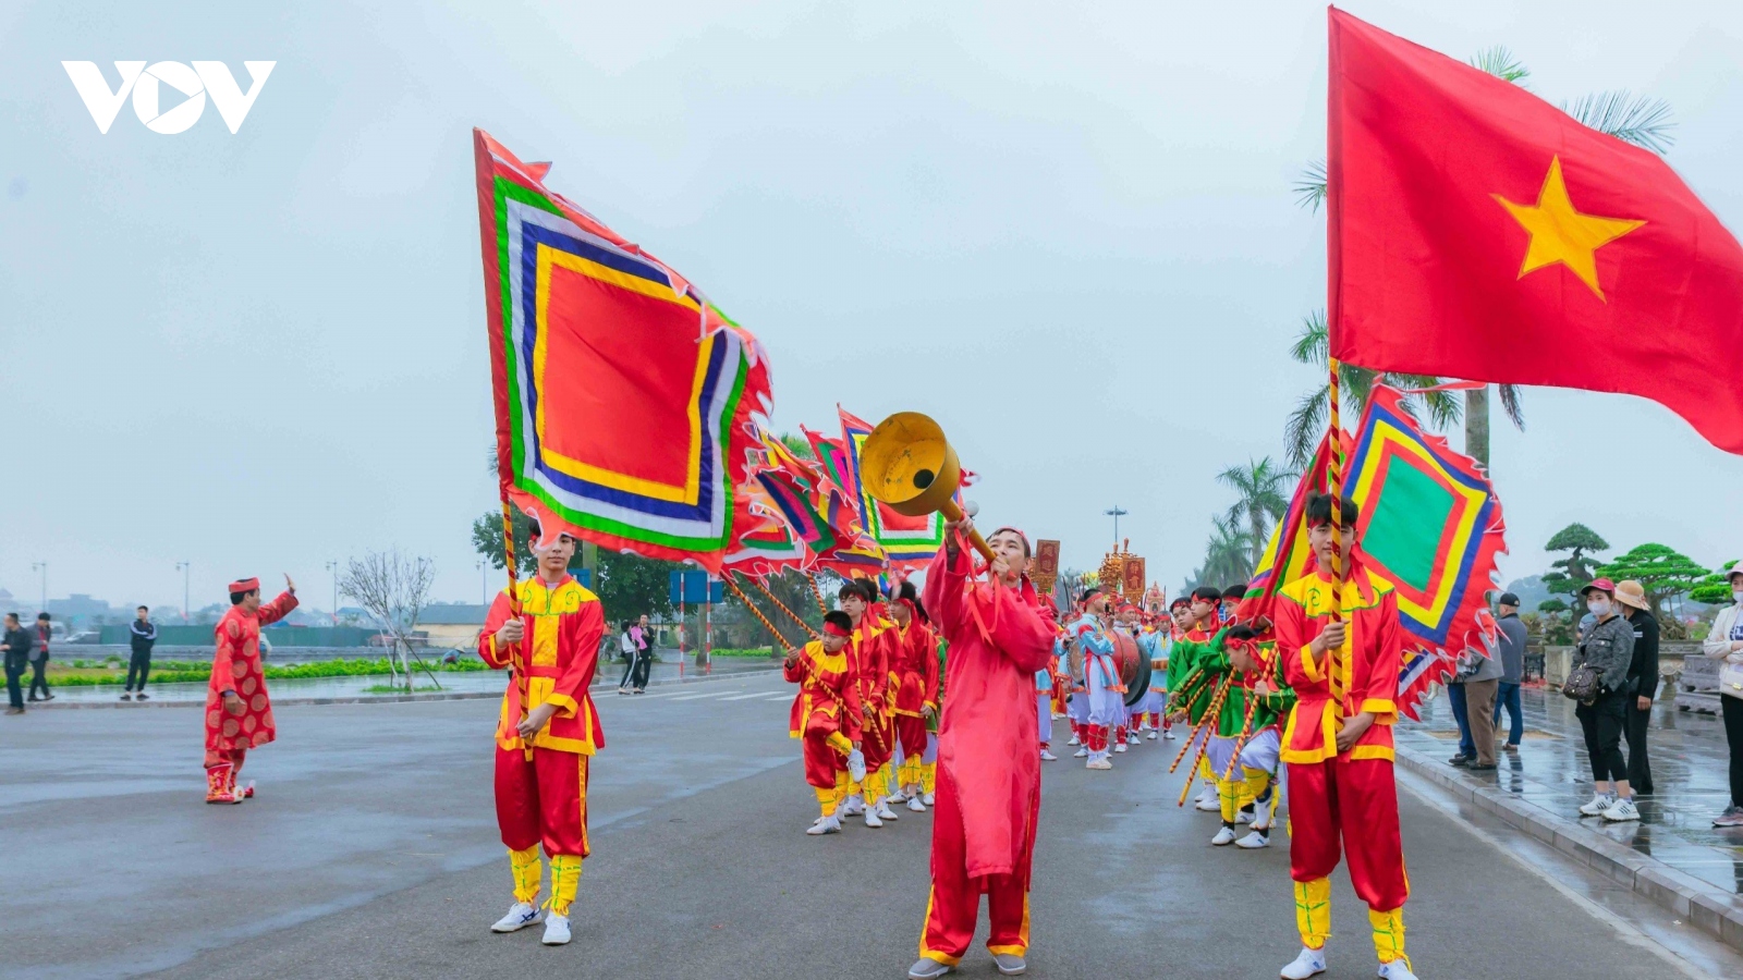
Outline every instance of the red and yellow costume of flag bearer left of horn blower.
[[[533, 577], [519, 582], [521, 642], [497, 643], [497, 630], [512, 616], [509, 591], [490, 607], [478, 656], [493, 668], [512, 668], [497, 722], [497, 827], [509, 847], [514, 900], [539, 898], [539, 846], [551, 858], [551, 900], [568, 915], [587, 856], [587, 759], [605, 748], [605, 732], [587, 685], [598, 666], [605, 614], [600, 600], [570, 575], [560, 582]], [[556, 713], [533, 738], [518, 725], [540, 704]]]

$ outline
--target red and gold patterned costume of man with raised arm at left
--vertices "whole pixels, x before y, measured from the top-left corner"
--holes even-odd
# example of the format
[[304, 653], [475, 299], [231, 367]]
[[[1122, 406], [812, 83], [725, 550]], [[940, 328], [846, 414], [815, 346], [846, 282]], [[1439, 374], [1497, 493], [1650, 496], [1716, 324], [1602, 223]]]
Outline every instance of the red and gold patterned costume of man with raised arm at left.
[[[260, 579], [230, 582], [232, 593], [258, 588]], [[235, 776], [242, 771], [249, 748], [279, 736], [272, 698], [267, 694], [267, 673], [260, 668], [260, 628], [284, 619], [293, 609], [296, 596], [286, 591], [256, 610], [232, 605], [213, 628], [218, 649], [213, 654], [213, 677], [206, 685], [206, 802], [242, 802], [254, 795], [253, 786], [237, 790]], [[239, 715], [223, 706], [225, 692], [234, 692], [242, 701]]]

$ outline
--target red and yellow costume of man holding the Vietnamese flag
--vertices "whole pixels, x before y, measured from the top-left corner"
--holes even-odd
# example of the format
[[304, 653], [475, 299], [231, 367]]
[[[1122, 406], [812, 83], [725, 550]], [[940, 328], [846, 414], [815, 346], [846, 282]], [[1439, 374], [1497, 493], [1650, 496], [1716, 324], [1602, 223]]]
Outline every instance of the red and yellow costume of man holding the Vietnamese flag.
[[[1358, 553], [1337, 603], [1346, 621], [1344, 645], [1314, 656], [1311, 643], [1330, 623], [1335, 588], [1314, 568], [1283, 586], [1276, 603], [1278, 652], [1297, 698], [1281, 752], [1290, 774], [1295, 921], [1302, 945], [1325, 945], [1332, 928], [1330, 874], [1342, 840], [1349, 881], [1368, 903], [1373, 950], [1380, 963], [1393, 963], [1405, 959], [1403, 903], [1410, 895], [1393, 781], [1394, 696], [1403, 664], [1398, 596], [1363, 567]], [[1373, 713], [1373, 724], [1339, 752], [1337, 732], [1361, 711]]]

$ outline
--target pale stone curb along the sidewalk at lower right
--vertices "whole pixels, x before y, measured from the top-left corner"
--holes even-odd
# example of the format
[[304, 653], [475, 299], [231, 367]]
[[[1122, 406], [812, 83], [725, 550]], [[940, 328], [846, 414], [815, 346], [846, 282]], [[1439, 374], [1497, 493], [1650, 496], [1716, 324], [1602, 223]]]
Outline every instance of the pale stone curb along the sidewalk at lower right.
[[1475, 786], [1419, 752], [1403, 746], [1396, 746], [1394, 752], [1398, 762], [1415, 776], [1483, 813], [1494, 814], [1515, 830], [1536, 837], [1611, 881], [1628, 886], [1635, 895], [1656, 902], [1703, 933], [1743, 952], [1743, 898], [1654, 861], [1513, 793]]

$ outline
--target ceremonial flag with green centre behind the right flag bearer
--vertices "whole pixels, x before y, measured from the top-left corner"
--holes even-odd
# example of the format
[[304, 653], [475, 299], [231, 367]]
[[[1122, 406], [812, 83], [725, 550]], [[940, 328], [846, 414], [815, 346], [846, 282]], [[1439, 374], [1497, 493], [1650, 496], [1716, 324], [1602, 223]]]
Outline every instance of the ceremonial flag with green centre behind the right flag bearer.
[[[1344, 434], [1344, 488], [1358, 507], [1363, 560], [1398, 596], [1405, 631], [1398, 706], [1415, 718], [1429, 687], [1452, 673], [1454, 657], [1489, 652], [1487, 593], [1495, 588], [1495, 558], [1506, 551], [1506, 525], [1476, 460], [1422, 432], [1401, 399], [1373, 385], [1360, 429]], [[1269, 616], [1276, 591], [1312, 570], [1307, 495], [1325, 492], [1328, 457], [1330, 432], [1271, 535], [1243, 617]]]

